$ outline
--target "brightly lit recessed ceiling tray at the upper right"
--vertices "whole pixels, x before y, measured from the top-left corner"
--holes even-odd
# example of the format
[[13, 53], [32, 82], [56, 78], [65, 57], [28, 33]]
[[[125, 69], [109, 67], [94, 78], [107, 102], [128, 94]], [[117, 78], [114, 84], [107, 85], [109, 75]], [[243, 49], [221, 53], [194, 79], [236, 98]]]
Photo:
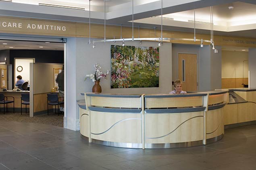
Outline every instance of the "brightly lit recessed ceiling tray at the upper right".
[[[233, 6], [233, 10], [229, 10]], [[164, 20], [166, 26], [177, 26], [185, 28], [194, 28], [194, 23], [188, 20], [210, 23], [210, 7], [187, 10], [172, 14], [163, 15], [164, 18], [173, 18], [173, 20]], [[143, 18], [136, 20], [137, 23], [159, 24], [160, 18]], [[233, 2], [213, 6], [213, 23], [216, 31], [241, 31], [252, 30], [256, 28], [256, 5], [244, 2]], [[196, 28], [210, 30], [209, 24], [196, 23]]]

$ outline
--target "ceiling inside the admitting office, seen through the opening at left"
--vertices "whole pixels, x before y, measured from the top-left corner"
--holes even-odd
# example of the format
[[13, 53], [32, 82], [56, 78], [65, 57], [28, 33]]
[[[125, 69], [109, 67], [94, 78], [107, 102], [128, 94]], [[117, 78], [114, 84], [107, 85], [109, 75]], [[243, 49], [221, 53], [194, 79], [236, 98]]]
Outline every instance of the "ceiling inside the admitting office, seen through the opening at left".
[[[5, 44], [3, 44], [5, 43]], [[7, 44], [7, 45], [6, 45]], [[10, 48], [13, 47], [13, 48]], [[63, 43], [57, 42], [34, 42], [34, 41], [7, 41], [0, 40], [0, 50], [17, 50], [17, 49], [26, 49], [26, 50], [64, 50]]]

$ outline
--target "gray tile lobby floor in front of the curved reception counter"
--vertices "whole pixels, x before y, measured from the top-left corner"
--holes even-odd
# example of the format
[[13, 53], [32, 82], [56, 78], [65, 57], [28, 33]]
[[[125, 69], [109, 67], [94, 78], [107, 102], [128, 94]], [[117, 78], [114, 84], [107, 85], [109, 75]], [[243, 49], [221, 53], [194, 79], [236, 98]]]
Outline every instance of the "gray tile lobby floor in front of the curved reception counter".
[[0, 170], [256, 170], [256, 125], [214, 144], [127, 149], [89, 144], [52, 125], [0, 121]]

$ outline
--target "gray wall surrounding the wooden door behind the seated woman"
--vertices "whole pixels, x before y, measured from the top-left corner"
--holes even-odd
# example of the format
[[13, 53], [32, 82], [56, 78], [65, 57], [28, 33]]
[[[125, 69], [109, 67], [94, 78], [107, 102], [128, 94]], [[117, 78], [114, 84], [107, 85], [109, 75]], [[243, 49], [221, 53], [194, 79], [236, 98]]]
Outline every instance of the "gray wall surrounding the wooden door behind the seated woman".
[[212, 47], [204, 45], [173, 44], [173, 80], [178, 78], [178, 54], [197, 54], [198, 57], [198, 91], [221, 89], [221, 47], [215, 47], [219, 53], [214, 53]]

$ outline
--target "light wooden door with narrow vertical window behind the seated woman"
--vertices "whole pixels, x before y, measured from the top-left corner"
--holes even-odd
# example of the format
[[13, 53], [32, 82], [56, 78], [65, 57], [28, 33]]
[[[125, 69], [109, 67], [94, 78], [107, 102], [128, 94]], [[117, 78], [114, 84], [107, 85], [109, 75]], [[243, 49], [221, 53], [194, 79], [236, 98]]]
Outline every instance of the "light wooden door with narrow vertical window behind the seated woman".
[[197, 55], [179, 54], [178, 77], [183, 91], [197, 91]]

